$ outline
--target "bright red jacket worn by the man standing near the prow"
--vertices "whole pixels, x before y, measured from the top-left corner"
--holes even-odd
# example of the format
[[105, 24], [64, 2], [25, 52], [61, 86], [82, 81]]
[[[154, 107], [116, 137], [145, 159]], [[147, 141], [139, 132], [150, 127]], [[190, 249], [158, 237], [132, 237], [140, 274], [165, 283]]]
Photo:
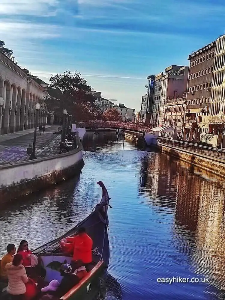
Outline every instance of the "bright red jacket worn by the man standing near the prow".
[[92, 262], [92, 245], [93, 241], [87, 233], [76, 235], [74, 238], [67, 238], [68, 243], [65, 247], [73, 245], [73, 260], [82, 260], [84, 263]]

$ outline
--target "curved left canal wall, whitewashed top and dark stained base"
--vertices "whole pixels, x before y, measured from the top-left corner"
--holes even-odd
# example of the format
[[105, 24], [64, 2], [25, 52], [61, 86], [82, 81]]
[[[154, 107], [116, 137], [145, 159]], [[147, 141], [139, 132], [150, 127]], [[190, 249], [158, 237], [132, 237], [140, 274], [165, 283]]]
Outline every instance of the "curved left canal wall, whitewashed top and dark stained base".
[[0, 203], [69, 179], [84, 167], [82, 144], [67, 153], [0, 166]]

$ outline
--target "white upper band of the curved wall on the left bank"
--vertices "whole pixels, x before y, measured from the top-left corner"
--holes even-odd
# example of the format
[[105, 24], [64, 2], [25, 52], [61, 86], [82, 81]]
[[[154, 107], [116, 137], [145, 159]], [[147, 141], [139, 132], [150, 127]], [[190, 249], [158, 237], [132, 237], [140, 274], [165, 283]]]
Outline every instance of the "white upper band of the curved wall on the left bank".
[[[75, 153], [74, 153], [75, 152]], [[44, 160], [32, 160], [15, 164], [13, 167], [0, 167], [0, 185], [7, 187], [22, 180], [35, 179], [54, 171], [63, 170], [82, 160], [82, 151], [74, 150], [60, 155], [54, 155]]]

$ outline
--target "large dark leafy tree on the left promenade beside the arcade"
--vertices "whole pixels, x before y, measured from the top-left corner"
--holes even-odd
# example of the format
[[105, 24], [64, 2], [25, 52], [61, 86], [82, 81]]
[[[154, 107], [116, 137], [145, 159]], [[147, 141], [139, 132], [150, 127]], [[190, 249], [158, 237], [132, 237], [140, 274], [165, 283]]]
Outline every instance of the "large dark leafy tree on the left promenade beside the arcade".
[[49, 97], [45, 103], [48, 111], [62, 116], [64, 109], [72, 115], [73, 121], [101, 119], [102, 114], [95, 105], [95, 98], [90, 94], [91, 86], [81, 77], [81, 73], [65, 71], [64, 74], [52, 75], [48, 88]]

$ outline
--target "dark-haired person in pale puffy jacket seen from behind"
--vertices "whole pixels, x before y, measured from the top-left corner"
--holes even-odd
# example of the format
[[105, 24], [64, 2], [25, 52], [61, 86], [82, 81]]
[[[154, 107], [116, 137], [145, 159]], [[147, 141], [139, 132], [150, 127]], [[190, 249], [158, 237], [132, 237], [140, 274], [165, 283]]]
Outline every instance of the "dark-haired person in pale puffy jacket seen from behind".
[[23, 256], [16, 254], [13, 261], [6, 264], [6, 273], [8, 276], [7, 292], [11, 295], [13, 300], [23, 300], [26, 293], [26, 285], [28, 277], [23, 263]]

